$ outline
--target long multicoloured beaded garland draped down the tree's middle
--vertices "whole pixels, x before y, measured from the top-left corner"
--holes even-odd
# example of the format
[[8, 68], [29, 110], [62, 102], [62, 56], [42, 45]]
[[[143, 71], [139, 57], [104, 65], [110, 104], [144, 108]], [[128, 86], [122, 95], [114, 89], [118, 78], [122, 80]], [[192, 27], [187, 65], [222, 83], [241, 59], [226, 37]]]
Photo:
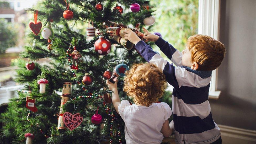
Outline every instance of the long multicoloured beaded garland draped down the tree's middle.
[[[100, 100], [103, 100], [103, 97], [102, 95], [100, 94], [93, 94], [93, 93], [90, 93], [86, 88], [84, 88], [82, 86], [82, 84], [78, 81], [77, 77], [76, 77], [76, 73], [72, 67], [72, 63], [71, 63], [71, 60], [70, 60], [70, 56], [68, 55], [68, 53], [71, 51], [71, 46], [72, 44], [70, 43], [70, 46], [69, 48], [67, 49], [66, 51], [66, 54], [67, 54], [67, 59], [68, 59], [68, 62], [70, 64], [70, 69], [73, 73], [73, 76], [74, 78], [76, 79], [76, 82], [77, 84], [85, 91], [85, 93], [87, 93], [88, 95], [83, 95], [83, 96], [78, 96], [78, 97], [75, 97], [73, 98], [72, 100], [75, 100], [75, 99], [78, 99], [78, 98], [97, 98], [97, 99], [100, 99]], [[103, 106], [105, 108], [105, 111], [106, 113], [112, 117], [112, 120], [110, 122], [110, 144], [113, 142], [113, 122], [115, 119], [117, 119], [115, 117], [115, 115], [113, 114], [113, 112], [109, 109], [109, 107], [106, 105], [106, 102], [103, 100]], [[121, 132], [120, 132], [120, 127], [119, 127], [119, 124], [118, 124], [118, 138], [119, 138], [119, 143], [122, 144], [122, 141], [121, 141]]]

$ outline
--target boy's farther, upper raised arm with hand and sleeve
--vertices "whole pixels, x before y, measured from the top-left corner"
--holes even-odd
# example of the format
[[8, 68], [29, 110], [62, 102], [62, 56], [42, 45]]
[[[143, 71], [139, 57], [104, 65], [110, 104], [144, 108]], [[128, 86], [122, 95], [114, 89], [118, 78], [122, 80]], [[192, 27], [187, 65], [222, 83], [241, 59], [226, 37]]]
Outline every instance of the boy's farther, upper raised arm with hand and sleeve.
[[154, 41], [164, 55], [166, 55], [176, 66], [182, 66], [182, 52], [175, 49], [171, 44], [163, 40], [161, 37], [148, 32], [147, 29], [143, 28], [143, 31], [146, 34], [146, 36], [143, 37], [144, 39]]

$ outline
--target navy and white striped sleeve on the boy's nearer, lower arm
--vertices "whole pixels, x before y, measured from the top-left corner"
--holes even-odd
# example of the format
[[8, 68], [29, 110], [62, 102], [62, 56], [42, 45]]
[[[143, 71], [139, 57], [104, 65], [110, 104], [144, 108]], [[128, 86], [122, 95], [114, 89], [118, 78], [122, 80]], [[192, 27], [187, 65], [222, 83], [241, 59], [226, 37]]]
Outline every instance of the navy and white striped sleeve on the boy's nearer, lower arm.
[[156, 65], [165, 75], [166, 81], [172, 85], [174, 88], [179, 88], [178, 80], [175, 76], [175, 67], [173, 63], [170, 64], [167, 60], [164, 60], [159, 54], [157, 54], [153, 49], [145, 44], [144, 41], [139, 41], [135, 48], [140, 52], [140, 54], [145, 58], [148, 63], [153, 63]]

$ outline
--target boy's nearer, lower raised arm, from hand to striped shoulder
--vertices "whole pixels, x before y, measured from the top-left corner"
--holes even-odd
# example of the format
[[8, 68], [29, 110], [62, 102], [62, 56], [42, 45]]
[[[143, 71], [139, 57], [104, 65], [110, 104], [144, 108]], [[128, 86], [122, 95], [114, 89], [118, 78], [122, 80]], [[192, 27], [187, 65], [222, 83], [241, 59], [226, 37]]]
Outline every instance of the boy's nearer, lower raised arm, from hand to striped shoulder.
[[185, 71], [180, 67], [175, 68], [173, 64], [170, 64], [167, 60], [164, 60], [159, 54], [140, 40], [138, 36], [131, 30], [125, 30], [125, 39], [128, 39], [132, 43], [136, 44], [135, 48], [149, 63], [155, 64], [165, 75], [166, 81], [174, 88], [179, 88], [185, 81]]

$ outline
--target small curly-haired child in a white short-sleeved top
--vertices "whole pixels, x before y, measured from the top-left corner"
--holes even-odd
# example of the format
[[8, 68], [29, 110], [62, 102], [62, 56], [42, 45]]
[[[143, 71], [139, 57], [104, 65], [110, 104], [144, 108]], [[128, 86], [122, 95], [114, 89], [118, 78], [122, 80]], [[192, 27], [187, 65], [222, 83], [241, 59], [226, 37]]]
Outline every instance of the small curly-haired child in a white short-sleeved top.
[[167, 103], [155, 103], [162, 97], [165, 83], [165, 76], [154, 64], [134, 64], [124, 79], [124, 92], [135, 102], [130, 105], [127, 100], [120, 101], [117, 81], [107, 81], [113, 90], [113, 105], [125, 122], [126, 143], [161, 143], [164, 136], [172, 134], [168, 122], [171, 108]]

